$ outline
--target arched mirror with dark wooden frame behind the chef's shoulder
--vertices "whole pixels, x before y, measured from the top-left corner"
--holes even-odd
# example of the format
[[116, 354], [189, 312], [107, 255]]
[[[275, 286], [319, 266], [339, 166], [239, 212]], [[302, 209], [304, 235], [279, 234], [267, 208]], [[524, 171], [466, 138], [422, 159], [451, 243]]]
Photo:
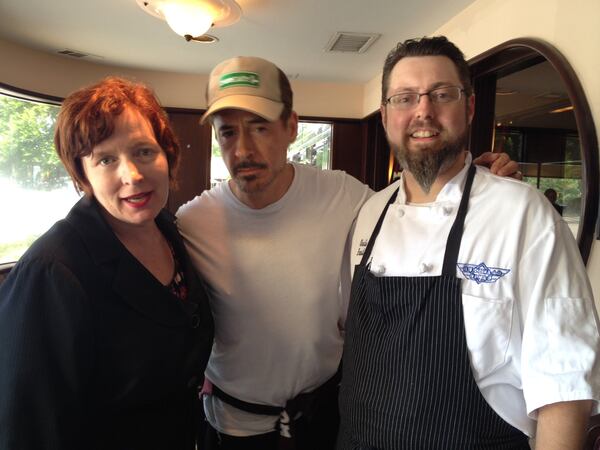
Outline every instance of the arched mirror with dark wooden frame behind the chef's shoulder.
[[549, 44], [515, 39], [469, 61], [476, 93], [471, 150], [505, 151], [549, 198], [584, 262], [598, 213], [598, 144], [583, 90]]

